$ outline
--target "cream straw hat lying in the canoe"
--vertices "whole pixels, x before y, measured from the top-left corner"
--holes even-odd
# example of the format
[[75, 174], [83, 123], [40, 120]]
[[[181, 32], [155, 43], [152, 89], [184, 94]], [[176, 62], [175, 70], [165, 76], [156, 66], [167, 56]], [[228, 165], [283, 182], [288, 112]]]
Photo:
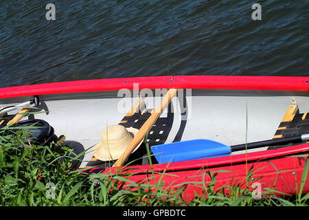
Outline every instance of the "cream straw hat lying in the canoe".
[[[132, 142], [138, 129], [125, 128], [122, 125], [111, 125], [101, 133], [101, 142], [95, 144], [93, 155], [102, 161], [118, 159]], [[137, 145], [134, 151], [141, 146], [143, 140]], [[133, 152], [134, 152], [133, 151]]]

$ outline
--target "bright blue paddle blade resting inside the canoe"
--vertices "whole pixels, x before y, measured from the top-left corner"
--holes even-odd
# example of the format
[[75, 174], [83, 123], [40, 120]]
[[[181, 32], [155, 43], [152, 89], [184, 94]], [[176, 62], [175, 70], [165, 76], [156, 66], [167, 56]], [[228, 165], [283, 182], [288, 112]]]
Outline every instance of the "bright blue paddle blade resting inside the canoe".
[[212, 140], [198, 139], [151, 147], [160, 164], [181, 162], [209, 157], [222, 157], [231, 154], [231, 147]]

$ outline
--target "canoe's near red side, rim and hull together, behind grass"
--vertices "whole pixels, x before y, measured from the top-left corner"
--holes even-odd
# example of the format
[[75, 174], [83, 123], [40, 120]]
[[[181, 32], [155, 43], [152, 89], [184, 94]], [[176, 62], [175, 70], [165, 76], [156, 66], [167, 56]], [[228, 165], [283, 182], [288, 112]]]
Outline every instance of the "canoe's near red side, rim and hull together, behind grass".
[[[227, 157], [215, 157], [211, 159], [199, 159], [190, 162], [176, 162], [172, 164], [154, 164], [150, 166], [130, 166], [122, 170], [122, 173], [130, 173], [128, 179], [139, 183], [155, 184], [164, 181], [165, 189], [171, 190], [187, 185], [183, 199], [190, 201], [196, 195], [207, 196], [207, 187], [211, 185], [211, 175], [217, 173], [215, 189], [227, 186], [247, 188], [255, 190], [254, 184], [260, 184], [261, 190], [266, 190], [266, 195], [289, 196], [297, 195], [303, 184], [302, 193], [309, 192], [309, 179], [305, 182], [301, 179], [306, 175], [304, 166], [308, 160], [309, 144], [291, 146], [279, 150], [231, 155]], [[305, 153], [299, 155], [299, 153]], [[294, 156], [292, 156], [294, 155]], [[106, 169], [104, 173], [116, 173]], [[118, 170], [119, 171], [119, 170]], [[152, 174], [152, 171], [154, 174]], [[206, 172], [207, 171], [207, 172]], [[308, 171], [307, 171], [308, 172]], [[191, 184], [192, 183], [192, 184]], [[275, 193], [272, 193], [275, 192]], [[225, 189], [229, 195], [229, 190]]]

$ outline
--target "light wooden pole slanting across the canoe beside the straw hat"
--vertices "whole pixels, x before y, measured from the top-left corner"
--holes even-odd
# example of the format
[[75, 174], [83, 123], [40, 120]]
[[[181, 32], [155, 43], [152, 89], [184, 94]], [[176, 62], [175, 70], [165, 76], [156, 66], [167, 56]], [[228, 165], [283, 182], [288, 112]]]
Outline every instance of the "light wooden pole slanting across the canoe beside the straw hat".
[[128, 156], [130, 156], [130, 154], [135, 150], [136, 146], [144, 139], [144, 137], [146, 137], [147, 133], [150, 131], [152, 126], [155, 124], [157, 119], [160, 117], [164, 109], [168, 106], [172, 98], [176, 95], [177, 91], [178, 89], [168, 90], [168, 93], [164, 96], [159, 107], [157, 107], [156, 109], [154, 109], [154, 111], [152, 111], [152, 114], [150, 115], [148, 120], [146, 120], [143, 126], [141, 126], [141, 129], [139, 129], [139, 131], [133, 138], [130, 145], [126, 148], [126, 151], [124, 151], [122, 156], [119, 157], [119, 159], [117, 159], [113, 167], [122, 166], [124, 162], [126, 162], [126, 159], [128, 159]]

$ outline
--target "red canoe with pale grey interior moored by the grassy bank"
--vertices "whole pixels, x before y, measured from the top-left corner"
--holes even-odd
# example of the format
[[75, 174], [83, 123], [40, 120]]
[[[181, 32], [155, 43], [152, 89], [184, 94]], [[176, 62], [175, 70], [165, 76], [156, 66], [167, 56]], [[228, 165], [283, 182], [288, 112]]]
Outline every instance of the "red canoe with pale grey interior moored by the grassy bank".
[[[100, 142], [100, 133], [106, 124], [140, 129], [150, 117], [151, 113], [147, 110], [158, 106], [161, 94], [175, 88], [179, 89], [178, 96], [172, 99], [168, 109], [150, 130], [146, 140], [149, 146], [196, 139], [233, 145], [309, 133], [308, 81], [309, 77], [277, 76], [81, 80], [1, 88], [0, 104], [3, 107], [20, 104], [18, 109], [8, 112], [13, 115], [38, 97], [38, 110], [43, 113], [35, 114], [34, 118], [48, 122], [56, 135], [65, 135], [67, 142], [73, 143], [72, 147], [91, 149]], [[128, 115], [137, 95], [144, 100], [144, 111]], [[5, 112], [2, 110], [1, 113]], [[248, 186], [252, 190], [262, 186], [288, 195], [295, 195], [299, 190], [309, 192], [309, 179], [302, 181], [302, 177], [306, 177], [304, 172], [308, 172], [305, 164], [309, 144], [305, 142], [170, 164], [158, 164], [153, 157], [153, 166], [149, 165], [147, 158], [139, 159], [146, 155], [145, 148], [142, 144], [128, 158], [127, 162], [137, 159], [130, 170], [124, 170], [132, 174], [130, 180], [163, 181], [166, 187], [187, 183], [185, 199], [205, 194], [199, 186], [204, 186], [204, 183], [207, 186], [209, 171], [218, 172], [217, 188], [242, 183], [243, 187]], [[89, 151], [80, 167], [97, 166], [94, 170], [113, 172], [113, 169], [102, 168], [106, 164], [111, 162], [95, 158]], [[155, 177], [147, 179], [150, 170], [155, 171]]]

